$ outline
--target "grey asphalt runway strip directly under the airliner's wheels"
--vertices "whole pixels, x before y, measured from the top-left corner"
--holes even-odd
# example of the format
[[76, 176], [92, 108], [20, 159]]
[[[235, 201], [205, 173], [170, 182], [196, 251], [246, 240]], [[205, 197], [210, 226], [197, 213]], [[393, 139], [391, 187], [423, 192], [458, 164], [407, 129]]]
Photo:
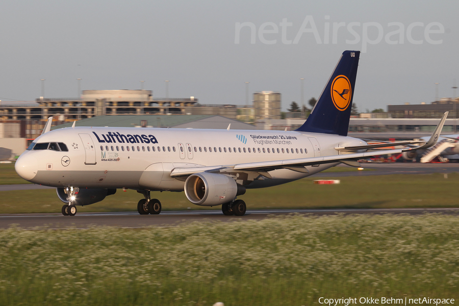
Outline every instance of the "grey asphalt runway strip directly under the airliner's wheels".
[[160, 215], [139, 215], [137, 212], [113, 213], [77, 213], [63, 216], [62, 214], [0, 214], [0, 228], [18, 226], [28, 230], [76, 230], [94, 226], [113, 226], [121, 228], [143, 228], [149, 226], [176, 226], [189, 222], [231, 222], [244, 220], [262, 220], [272, 215], [334, 215], [334, 214], [410, 214], [425, 213], [455, 214], [459, 216], [459, 208], [407, 208], [407, 209], [302, 209], [302, 210], [247, 210], [242, 217], [224, 216], [219, 210], [212, 211], [164, 211]]

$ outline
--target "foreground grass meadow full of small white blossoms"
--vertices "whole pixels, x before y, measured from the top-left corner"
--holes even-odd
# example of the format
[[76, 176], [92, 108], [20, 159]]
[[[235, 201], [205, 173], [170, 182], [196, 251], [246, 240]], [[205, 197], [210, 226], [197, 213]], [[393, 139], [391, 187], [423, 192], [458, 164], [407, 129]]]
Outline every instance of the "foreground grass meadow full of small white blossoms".
[[0, 231], [1, 305], [311, 305], [457, 298], [454, 215]]

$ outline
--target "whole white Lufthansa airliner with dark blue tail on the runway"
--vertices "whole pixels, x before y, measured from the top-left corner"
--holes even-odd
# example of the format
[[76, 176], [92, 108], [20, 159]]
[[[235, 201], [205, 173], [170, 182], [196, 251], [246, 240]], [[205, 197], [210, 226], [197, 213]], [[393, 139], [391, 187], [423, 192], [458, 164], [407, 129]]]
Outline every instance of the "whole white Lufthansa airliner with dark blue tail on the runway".
[[[359, 51], [345, 51], [331, 73], [308, 120], [296, 131], [72, 127], [42, 135], [18, 158], [15, 169], [25, 180], [56, 187], [65, 203], [76, 206], [103, 200], [116, 189], [143, 194], [139, 214], [159, 214], [161, 202], [151, 191], [185, 191], [195, 205], [222, 206], [225, 215], [242, 216], [246, 189], [285, 184], [340, 163], [424, 149], [437, 142], [447, 113], [429, 140], [368, 145], [347, 137]], [[367, 151], [385, 146], [417, 147]]]

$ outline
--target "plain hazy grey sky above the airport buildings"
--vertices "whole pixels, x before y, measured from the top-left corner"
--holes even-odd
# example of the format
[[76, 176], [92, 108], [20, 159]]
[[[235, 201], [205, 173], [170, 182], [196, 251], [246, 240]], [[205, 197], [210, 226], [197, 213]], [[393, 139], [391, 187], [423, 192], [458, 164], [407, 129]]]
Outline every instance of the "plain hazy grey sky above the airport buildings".
[[[0, 3], [0, 100], [152, 90], [201, 104], [249, 93], [318, 98], [344, 50], [362, 50], [359, 111], [453, 96], [457, 1], [11, 1]], [[300, 79], [304, 79], [301, 81]], [[436, 85], [435, 83], [439, 83]], [[456, 95], [459, 95], [457, 91]]]

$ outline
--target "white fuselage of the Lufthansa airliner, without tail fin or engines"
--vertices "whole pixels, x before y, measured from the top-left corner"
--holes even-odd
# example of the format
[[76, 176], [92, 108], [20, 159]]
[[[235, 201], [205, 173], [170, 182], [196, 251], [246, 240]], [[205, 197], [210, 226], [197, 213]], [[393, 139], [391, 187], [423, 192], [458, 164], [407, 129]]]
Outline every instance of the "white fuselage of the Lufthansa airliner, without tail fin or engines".
[[[351, 137], [284, 131], [75, 127], [58, 129], [34, 143], [64, 143], [68, 151], [27, 150], [16, 170], [30, 182], [53, 187], [183, 191], [174, 168], [236, 165], [338, 155], [335, 147], [365, 144]], [[256, 180], [242, 171], [237, 182], [261, 188], [301, 179], [338, 163], [308, 166], [309, 173], [269, 171]]]

